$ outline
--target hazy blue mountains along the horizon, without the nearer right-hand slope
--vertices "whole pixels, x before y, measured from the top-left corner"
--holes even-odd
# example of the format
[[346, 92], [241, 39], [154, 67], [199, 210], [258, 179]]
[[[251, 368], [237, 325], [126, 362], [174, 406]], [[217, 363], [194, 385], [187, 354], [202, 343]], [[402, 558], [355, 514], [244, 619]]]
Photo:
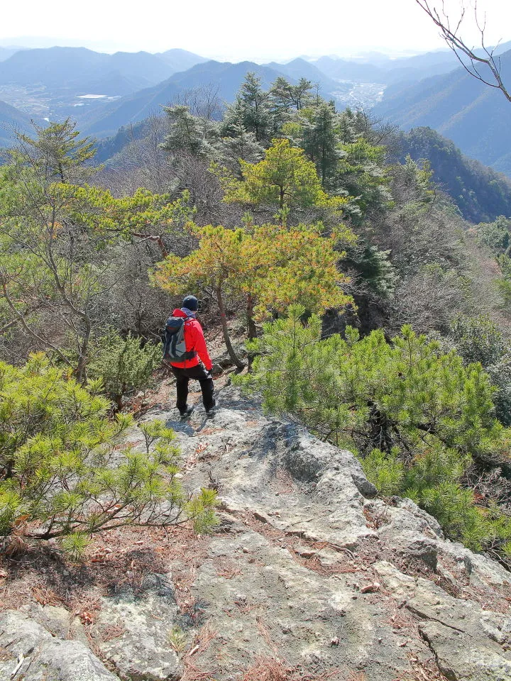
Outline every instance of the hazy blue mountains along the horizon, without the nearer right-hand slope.
[[177, 93], [217, 79], [220, 96], [233, 101], [247, 70], [258, 72], [266, 87], [278, 75], [293, 81], [305, 77], [319, 83], [322, 94], [340, 107], [368, 107], [380, 98], [386, 83], [435, 73], [453, 59], [449, 51], [412, 60], [374, 56], [377, 65], [322, 57], [314, 63], [298, 58], [261, 66], [208, 61], [186, 50], [109, 55], [86, 48], [0, 48], [0, 101], [29, 116], [71, 116], [79, 126], [108, 135], [115, 127], [141, 120], [148, 109], [158, 109]]

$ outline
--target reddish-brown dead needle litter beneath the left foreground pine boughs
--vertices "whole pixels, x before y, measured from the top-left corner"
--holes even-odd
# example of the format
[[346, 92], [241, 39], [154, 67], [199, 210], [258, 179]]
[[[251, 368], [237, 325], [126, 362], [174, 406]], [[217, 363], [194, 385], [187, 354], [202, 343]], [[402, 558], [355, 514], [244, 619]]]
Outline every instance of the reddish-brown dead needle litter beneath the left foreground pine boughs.
[[0, 560], [0, 610], [34, 601], [60, 605], [85, 624], [94, 621], [101, 596], [131, 587], [142, 594], [152, 573], [165, 574], [171, 561], [191, 570], [207, 555], [209, 540], [187, 528], [124, 527], [94, 540], [82, 563], [72, 563], [55, 546], [28, 547]]

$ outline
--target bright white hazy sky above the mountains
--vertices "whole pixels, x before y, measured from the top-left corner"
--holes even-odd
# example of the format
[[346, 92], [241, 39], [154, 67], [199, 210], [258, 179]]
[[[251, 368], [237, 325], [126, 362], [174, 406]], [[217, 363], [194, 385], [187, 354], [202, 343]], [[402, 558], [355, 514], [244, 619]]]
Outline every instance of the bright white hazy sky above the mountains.
[[[9, 0], [2, 4], [2, 45], [84, 45], [105, 52], [183, 48], [231, 60], [444, 47], [415, 0]], [[460, 0], [446, 0], [446, 6], [458, 16]], [[487, 43], [511, 39], [510, 0], [479, 0], [478, 10], [481, 17], [486, 13]], [[471, 11], [463, 35], [471, 43], [478, 41]]]

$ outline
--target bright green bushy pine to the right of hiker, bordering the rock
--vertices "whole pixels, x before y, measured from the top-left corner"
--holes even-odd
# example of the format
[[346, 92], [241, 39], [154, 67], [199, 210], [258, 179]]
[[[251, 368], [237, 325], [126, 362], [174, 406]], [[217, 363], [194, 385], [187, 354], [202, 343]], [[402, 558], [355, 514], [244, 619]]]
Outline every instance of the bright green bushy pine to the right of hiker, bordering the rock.
[[468, 465], [510, 465], [511, 433], [495, 419], [481, 365], [463, 365], [410, 326], [390, 342], [349, 327], [346, 340], [322, 340], [319, 317], [303, 323], [303, 314], [292, 306], [287, 319], [265, 323], [249, 344], [253, 372], [238, 381], [260, 391], [268, 411], [358, 450], [380, 492], [411, 497], [451, 538], [505, 552], [511, 519], [461, 485]]

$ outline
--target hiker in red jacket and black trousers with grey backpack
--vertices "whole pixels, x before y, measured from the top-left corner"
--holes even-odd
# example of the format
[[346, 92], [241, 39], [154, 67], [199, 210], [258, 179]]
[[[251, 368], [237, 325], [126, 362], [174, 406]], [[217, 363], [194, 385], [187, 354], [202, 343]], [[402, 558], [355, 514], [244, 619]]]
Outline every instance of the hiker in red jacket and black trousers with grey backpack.
[[182, 419], [186, 419], [194, 409], [193, 405], [187, 404], [188, 383], [191, 378], [200, 383], [202, 402], [208, 416], [214, 414], [216, 406], [211, 377], [213, 363], [204, 341], [202, 326], [195, 319], [198, 308], [197, 298], [187, 296], [182, 301], [181, 309], [175, 309], [167, 319], [163, 336], [163, 358], [170, 362], [172, 373], [176, 377], [176, 406]]

